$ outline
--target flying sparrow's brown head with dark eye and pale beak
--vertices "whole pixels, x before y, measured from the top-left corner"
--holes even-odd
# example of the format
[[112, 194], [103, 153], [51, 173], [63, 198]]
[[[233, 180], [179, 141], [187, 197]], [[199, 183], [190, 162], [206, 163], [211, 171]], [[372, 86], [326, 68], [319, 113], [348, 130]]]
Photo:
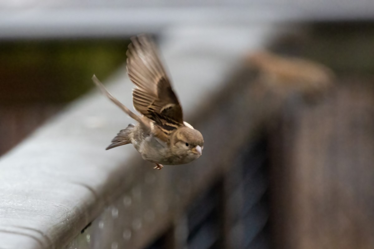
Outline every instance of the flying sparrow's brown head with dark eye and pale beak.
[[171, 143], [175, 154], [197, 159], [202, 154], [204, 138], [200, 131], [183, 126], [175, 131]]

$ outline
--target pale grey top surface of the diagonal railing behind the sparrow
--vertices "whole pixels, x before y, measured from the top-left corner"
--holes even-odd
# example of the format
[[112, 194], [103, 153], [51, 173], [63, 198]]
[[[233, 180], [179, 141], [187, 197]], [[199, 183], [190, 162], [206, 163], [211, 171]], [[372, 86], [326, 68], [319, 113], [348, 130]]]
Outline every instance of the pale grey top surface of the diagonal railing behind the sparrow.
[[[267, 25], [165, 32], [163, 57], [187, 121], [269, 32]], [[125, 67], [108, 81], [111, 93], [131, 107]], [[117, 196], [129, 165], [140, 158], [132, 146], [104, 150], [130, 122], [94, 90], [0, 158], [1, 248], [58, 248], [79, 234]]]

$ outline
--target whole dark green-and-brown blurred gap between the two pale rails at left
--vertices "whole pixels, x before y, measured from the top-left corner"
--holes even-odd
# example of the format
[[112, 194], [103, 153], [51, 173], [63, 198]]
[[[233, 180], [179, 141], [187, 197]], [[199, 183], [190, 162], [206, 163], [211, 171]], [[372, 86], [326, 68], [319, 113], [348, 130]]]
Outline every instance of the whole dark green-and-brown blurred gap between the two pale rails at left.
[[[0, 41], [0, 155], [126, 60], [128, 39]], [[125, 70], [125, 68], [123, 68]]]

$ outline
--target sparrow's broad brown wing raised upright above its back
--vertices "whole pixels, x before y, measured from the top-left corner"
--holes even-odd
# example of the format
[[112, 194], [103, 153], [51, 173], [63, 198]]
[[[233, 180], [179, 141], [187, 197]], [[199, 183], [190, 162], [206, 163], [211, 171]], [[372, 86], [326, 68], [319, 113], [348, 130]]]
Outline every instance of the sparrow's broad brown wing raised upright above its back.
[[154, 121], [166, 135], [183, 126], [183, 112], [153, 41], [147, 35], [131, 38], [127, 72], [135, 84], [134, 108]]

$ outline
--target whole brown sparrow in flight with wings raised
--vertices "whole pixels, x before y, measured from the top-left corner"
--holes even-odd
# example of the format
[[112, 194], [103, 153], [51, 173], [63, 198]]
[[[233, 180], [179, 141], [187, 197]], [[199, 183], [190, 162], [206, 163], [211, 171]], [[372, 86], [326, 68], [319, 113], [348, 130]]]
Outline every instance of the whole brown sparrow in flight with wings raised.
[[153, 40], [147, 35], [132, 37], [126, 55], [128, 76], [135, 85], [133, 105], [140, 115], [113, 97], [95, 75], [92, 77], [103, 94], [137, 121], [120, 130], [106, 149], [131, 143], [145, 161], [156, 164], [155, 169], [199, 158], [203, 136], [183, 120], [182, 107]]

